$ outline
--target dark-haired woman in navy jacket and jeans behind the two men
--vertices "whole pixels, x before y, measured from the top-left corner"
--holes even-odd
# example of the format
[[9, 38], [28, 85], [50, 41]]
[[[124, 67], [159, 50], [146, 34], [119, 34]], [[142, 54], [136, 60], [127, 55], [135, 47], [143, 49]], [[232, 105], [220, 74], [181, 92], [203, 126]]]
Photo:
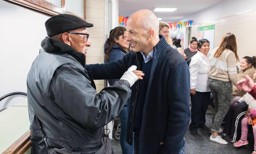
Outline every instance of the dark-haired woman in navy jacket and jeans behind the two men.
[[[122, 59], [129, 52], [129, 42], [126, 41], [127, 30], [125, 27], [118, 26], [110, 31], [109, 38], [105, 43], [105, 62], [110, 63]], [[119, 79], [108, 80], [111, 86], [115, 81]], [[129, 100], [128, 100], [129, 101]], [[127, 102], [128, 102], [127, 101]], [[133, 153], [133, 145], [129, 145], [126, 142], [126, 129], [127, 129], [127, 102], [121, 110], [119, 117], [121, 122], [120, 144], [123, 154]]]

